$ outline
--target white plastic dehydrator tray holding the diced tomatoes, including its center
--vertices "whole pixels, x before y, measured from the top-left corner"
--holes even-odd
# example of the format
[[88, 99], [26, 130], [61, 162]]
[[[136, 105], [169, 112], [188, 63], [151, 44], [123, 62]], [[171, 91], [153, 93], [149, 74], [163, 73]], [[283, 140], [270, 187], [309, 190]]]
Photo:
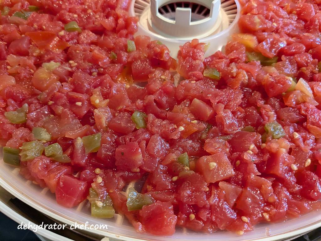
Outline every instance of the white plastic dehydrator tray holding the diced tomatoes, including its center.
[[[184, 8], [190, 8], [191, 10]], [[193, 38], [198, 38], [201, 42], [209, 44], [207, 54], [220, 50], [229, 40], [230, 35], [237, 31], [240, 5], [237, 0], [222, 0], [221, 2], [219, 0], [190, 0], [189, 2], [133, 0], [130, 14], [138, 16], [140, 19], [137, 35], [148, 35], [152, 40], [159, 40], [166, 44], [171, 50], [172, 57], [175, 58], [179, 46]], [[176, 22], [176, 16], [186, 21]], [[194, 25], [192, 27], [195, 32], [194, 35], [191, 35], [191, 31], [188, 31], [189, 25]], [[117, 240], [274, 241], [294, 237], [321, 226], [321, 210], [318, 210], [298, 219], [291, 219], [282, 223], [260, 224], [255, 227], [254, 231], [242, 236], [224, 231], [204, 234], [177, 228], [177, 232], [171, 237], [156, 237], [137, 233], [127, 220], [120, 215], [116, 215], [113, 219], [91, 217], [90, 205], [87, 200], [74, 209], [59, 206], [56, 203], [55, 195], [50, 193], [48, 188], [42, 189], [38, 185], [25, 180], [20, 176], [19, 168], [4, 164], [2, 156], [0, 156], [0, 185], [21, 201], [59, 222], [68, 225], [75, 222], [78, 224], [88, 222], [89, 225], [106, 224], [108, 229], [87, 229], [87, 232]], [[19, 221], [19, 215], [17, 214], [17, 216], [16, 212], [10, 210], [10, 207], [2, 205], [3, 203], [0, 204], [1, 211], [15, 221]], [[56, 237], [54, 239], [57, 240]]]

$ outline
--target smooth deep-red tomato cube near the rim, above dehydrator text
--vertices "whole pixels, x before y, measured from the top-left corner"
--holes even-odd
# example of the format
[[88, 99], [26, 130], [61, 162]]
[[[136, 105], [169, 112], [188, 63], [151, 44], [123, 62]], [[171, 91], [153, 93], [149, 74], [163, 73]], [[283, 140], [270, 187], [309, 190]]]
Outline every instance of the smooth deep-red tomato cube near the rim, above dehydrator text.
[[56, 201], [59, 205], [72, 208], [84, 201], [88, 195], [87, 182], [74, 176], [63, 174], [56, 186]]

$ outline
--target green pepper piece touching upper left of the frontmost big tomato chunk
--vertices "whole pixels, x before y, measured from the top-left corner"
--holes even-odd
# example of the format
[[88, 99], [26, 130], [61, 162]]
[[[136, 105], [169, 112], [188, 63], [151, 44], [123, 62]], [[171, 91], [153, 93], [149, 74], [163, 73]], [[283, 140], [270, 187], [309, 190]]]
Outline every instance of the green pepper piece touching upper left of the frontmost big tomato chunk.
[[153, 198], [148, 194], [142, 194], [136, 192], [134, 188], [129, 188], [127, 198], [127, 209], [128, 211], [140, 210], [145, 205], [150, 205], [154, 202]]

